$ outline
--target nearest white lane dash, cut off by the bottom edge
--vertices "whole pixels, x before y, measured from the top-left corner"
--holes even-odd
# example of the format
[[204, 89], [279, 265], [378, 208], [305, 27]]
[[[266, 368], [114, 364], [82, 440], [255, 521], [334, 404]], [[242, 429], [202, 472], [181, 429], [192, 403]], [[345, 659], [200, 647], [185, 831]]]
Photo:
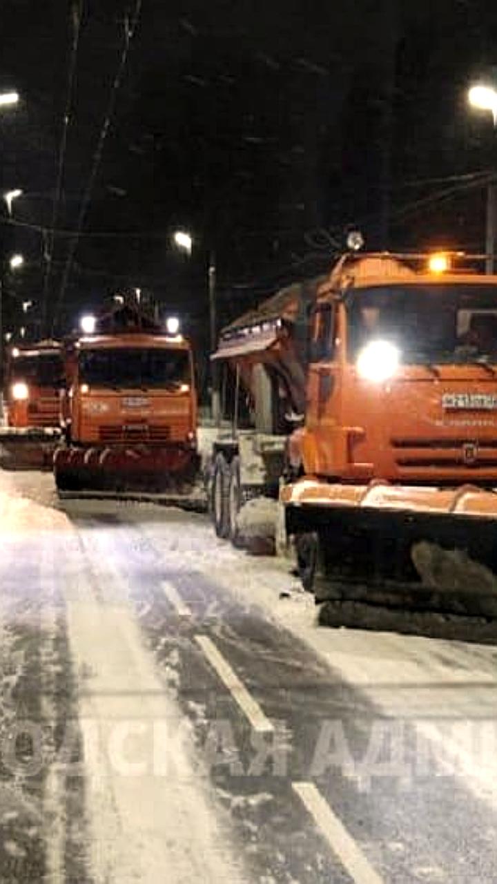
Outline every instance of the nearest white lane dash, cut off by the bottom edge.
[[292, 786], [324, 834], [333, 853], [356, 884], [384, 884], [314, 783], [294, 782]]

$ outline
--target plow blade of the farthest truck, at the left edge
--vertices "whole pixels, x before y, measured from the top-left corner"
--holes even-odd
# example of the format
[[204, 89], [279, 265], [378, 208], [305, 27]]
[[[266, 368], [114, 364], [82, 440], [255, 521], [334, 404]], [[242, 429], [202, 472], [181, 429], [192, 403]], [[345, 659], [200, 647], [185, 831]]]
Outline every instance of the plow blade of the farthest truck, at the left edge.
[[52, 469], [60, 435], [56, 428], [0, 428], [0, 467], [9, 470]]

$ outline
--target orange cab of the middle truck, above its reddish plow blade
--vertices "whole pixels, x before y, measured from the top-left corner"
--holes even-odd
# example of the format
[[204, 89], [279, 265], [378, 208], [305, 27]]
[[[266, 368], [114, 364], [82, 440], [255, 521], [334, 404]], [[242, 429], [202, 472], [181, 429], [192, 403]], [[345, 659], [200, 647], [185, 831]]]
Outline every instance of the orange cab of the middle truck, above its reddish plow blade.
[[80, 445], [195, 443], [196, 394], [184, 338], [82, 338], [73, 355], [65, 430]]

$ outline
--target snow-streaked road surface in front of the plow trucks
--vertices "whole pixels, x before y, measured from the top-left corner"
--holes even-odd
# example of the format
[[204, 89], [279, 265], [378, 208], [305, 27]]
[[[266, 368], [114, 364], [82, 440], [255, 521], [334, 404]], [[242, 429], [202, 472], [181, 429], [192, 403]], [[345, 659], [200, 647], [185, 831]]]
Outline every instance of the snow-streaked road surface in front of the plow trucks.
[[204, 516], [0, 472], [0, 880], [497, 880], [497, 649], [319, 628]]

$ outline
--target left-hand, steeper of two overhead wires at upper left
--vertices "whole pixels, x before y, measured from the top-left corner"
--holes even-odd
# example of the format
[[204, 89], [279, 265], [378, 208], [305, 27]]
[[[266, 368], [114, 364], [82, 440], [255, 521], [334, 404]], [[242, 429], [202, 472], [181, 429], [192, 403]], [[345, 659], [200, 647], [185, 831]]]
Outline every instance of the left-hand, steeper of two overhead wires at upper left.
[[60, 206], [60, 197], [62, 194], [62, 183], [64, 179], [65, 151], [67, 148], [67, 134], [69, 132], [69, 124], [71, 122], [71, 111], [73, 109], [73, 89], [76, 70], [78, 66], [78, 50], [80, 47], [80, 27], [83, 17], [84, 0], [74, 0], [73, 2], [73, 45], [71, 49], [71, 57], [69, 59], [69, 69], [67, 72], [67, 89], [65, 93], [65, 109], [62, 124], [62, 133], [60, 136], [60, 144], [58, 148], [57, 161], [57, 179], [55, 193], [52, 206], [52, 216], [50, 222], [50, 231], [46, 234], [44, 240], [45, 253], [45, 272], [43, 275], [43, 294], [42, 294], [42, 327], [44, 328], [47, 318], [50, 272], [52, 267], [55, 228], [57, 225], [58, 210]]

